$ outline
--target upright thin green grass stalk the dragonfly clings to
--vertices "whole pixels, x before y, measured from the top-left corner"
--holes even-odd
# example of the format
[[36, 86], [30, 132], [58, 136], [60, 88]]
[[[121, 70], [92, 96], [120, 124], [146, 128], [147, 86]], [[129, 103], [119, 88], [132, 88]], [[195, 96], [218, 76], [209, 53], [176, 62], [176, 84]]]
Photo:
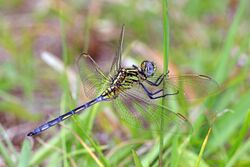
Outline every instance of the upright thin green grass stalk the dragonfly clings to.
[[[168, 1], [162, 0], [162, 15], [163, 15], [163, 49], [164, 49], [164, 64], [163, 73], [166, 74], [168, 71], [168, 55], [169, 55], [169, 24], [168, 24]], [[163, 87], [165, 87], [165, 81], [163, 81]], [[164, 93], [164, 92], [163, 92]], [[164, 106], [165, 101], [162, 98], [162, 105]], [[164, 112], [163, 110], [161, 112]], [[161, 119], [161, 130], [163, 129], [164, 122]], [[159, 146], [159, 166], [163, 166], [163, 142], [164, 134], [163, 130], [160, 133], [160, 146]]]

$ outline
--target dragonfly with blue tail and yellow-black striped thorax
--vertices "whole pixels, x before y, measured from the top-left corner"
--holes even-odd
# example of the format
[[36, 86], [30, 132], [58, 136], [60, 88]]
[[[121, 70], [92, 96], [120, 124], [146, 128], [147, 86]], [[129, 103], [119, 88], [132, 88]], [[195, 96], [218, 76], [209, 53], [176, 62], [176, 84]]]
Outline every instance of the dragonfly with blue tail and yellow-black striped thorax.
[[[169, 73], [157, 75], [156, 64], [150, 60], [142, 61], [140, 66], [123, 67], [121, 60], [124, 32], [123, 25], [116, 54], [108, 73], [105, 73], [86, 53], [82, 53], [77, 60], [84, 92], [87, 96], [95, 98], [42, 124], [27, 136], [38, 135], [104, 101], [112, 101], [120, 118], [136, 128], [156, 131], [167, 131], [171, 127], [185, 131], [192, 129], [191, 123], [184, 115], [171, 111], [165, 105], [161, 105], [159, 100], [177, 96], [187, 99], [204, 97], [218, 87], [217, 82], [206, 75], [170, 76]], [[86, 68], [88, 64], [91, 68]], [[189, 94], [193, 94], [193, 97]]]

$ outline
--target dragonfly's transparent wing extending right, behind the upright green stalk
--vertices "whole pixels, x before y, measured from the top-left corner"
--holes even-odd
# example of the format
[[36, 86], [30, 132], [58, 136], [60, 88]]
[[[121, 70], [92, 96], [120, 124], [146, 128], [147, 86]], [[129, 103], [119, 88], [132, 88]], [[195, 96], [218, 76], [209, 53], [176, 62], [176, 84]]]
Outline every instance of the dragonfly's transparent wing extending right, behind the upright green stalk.
[[[150, 80], [155, 81], [157, 77], [153, 77]], [[146, 84], [149, 89], [154, 91], [163, 89], [158, 95], [170, 94], [165, 98], [171, 99], [175, 92], [175, 96], [183, 96], [187, 100], [198, 99], [205, 97], [214, 92], [218, 87], [218, 83], [212, 78], [205, 75], [187, 74], [182, 76], [165, 76], [164, 82], [159, 86], [151, 86]], [[144, 90], [141, 90], [144, 91]], [[157, 95], [157, 96], [158, 96]]]

